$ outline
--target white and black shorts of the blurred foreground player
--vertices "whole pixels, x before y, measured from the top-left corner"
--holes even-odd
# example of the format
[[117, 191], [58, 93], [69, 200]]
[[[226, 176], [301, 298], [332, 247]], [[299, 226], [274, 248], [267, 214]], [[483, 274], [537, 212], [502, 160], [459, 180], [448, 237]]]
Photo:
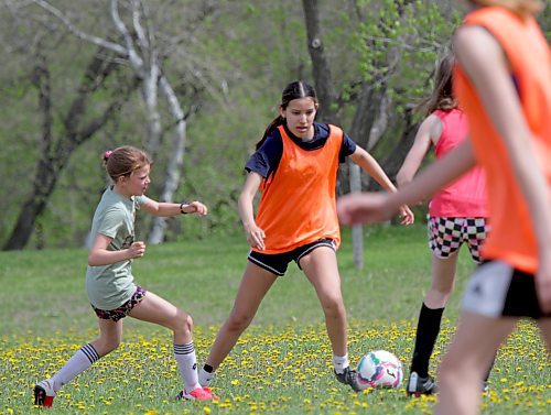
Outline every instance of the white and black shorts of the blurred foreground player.
[[477, 267], [467, 284], [463, 310], [486, 317], [551, 317], [540, 307], [534, 276], [503, 261]]

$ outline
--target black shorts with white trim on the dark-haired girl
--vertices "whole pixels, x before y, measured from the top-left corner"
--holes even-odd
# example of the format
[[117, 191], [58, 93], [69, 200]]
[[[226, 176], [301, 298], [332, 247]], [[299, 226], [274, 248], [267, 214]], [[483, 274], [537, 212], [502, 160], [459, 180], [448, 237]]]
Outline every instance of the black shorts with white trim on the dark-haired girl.
[[333, 251], [336, 251], [335, 242], [333, 241], [333, 239], [323, 238], [315, 242], [306, 243], [305, 245], [283, 253], [261, 253], [251, 250], [249, 252], [248, 260], [253, 264], [263, 267], [266, 271], [269, 271], [278, 276], [283, 276], [285, 274], [287, 266], [291, 261], [296, 262], [296, 265], [301, 267], [299, 261], [302, 259], [302, 256], [306, 255], [318, 247], [328, 247]]

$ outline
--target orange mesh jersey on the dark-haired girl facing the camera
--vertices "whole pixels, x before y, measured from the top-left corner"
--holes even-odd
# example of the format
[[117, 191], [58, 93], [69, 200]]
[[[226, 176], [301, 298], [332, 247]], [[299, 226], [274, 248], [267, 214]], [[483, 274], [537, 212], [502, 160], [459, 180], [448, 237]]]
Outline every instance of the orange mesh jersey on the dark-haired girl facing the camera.
[[321, 238], [341, 244], [336, 212], [336, 179], [343, 130], [329, 125], [325, 144], [301, 149], [278, 127], [283, 154], [276, 173], [262, 182], [256, 218], [266, 232], [263, 253], [292, 251]]

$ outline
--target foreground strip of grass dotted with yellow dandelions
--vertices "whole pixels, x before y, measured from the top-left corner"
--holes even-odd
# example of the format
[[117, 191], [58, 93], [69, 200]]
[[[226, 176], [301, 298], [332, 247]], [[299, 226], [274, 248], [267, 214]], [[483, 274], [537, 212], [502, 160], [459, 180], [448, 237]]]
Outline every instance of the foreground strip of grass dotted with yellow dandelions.
[[[217, 327], [197, 327], [195, 345], [204, 359]], [[350, 353], [356, 362], [372, 349], [387, 349], [409, 364], [413, 321], [353, 321]], [[435, 350], [453, 332], [444, 324]], [[32, 386], [53, 374], [94, 331], [32, 334], [0, 338], [0, 414], [32, 409]], [[536, 326], [521, 323], [500, 350], [483, 407], [493, 414], [547, 414], [551, 405], [550, 364]], [[121, 347], [66, 385], [48, 414], [425, 414], [434, 397], [407, 398], [399, 390], [356, 394], [332, 374], [323, 325], [251, 327], [217, 373], [212, 403], [175, 402], [181, 386], [170, 334], [129, 334]], [[35, 408], [35, 411], [40, 411]]]

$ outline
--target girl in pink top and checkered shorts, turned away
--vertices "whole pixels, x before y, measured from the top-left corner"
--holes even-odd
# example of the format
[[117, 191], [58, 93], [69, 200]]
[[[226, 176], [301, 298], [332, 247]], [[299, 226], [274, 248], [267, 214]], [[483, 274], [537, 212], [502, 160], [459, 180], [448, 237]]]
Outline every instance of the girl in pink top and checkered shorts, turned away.
[[[434, 89], [419, 106], [426, 118], [421, 122], [413, 146], [396, 177], [399, 187], [412, 181], [432, 146], [436, 159], [441, 159], [467, 138], [466, 116], [457, 107], [452, 92], [454, 64], [452, 54], [440, 62]], [[486, 205], [486, 179], [480, 167], [473, 168], [431, 199], [428, 230], [432, 284], [419, 314], [410, 378], [406, 386], [408, 395], [430, 395], [436, 391], [429, 374], [429, 362], [454, 286], [461, 245], [465, 243], [473, 261], [480, 262], [480, 248], [488, 231]]]

